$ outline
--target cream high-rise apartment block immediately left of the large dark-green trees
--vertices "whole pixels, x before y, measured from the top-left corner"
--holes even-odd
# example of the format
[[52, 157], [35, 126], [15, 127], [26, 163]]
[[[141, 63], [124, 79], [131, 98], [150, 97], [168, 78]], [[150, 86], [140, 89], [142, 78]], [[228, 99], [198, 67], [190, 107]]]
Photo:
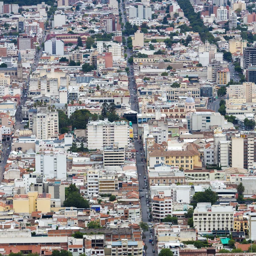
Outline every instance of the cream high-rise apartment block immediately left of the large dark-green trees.
[[58, 112], [49, 111], [46, 107], [38, 108], [33, 113], [32, 131], [38, 140], [58, 137]]

